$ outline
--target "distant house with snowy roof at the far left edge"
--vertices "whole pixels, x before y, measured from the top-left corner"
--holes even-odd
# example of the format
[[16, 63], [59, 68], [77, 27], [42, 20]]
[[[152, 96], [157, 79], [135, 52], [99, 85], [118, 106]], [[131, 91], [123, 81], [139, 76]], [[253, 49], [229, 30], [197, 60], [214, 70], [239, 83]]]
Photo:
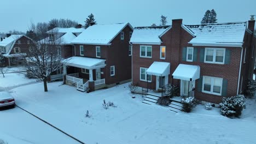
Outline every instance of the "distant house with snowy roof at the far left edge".
[[28, 45], [32, 43], [32, 40], [26, 35], [10, 35], [0, 41], [0, 52], [5, 57], [5, 66], [11, 67], [20, 65], [20, 57], [28, 53]]

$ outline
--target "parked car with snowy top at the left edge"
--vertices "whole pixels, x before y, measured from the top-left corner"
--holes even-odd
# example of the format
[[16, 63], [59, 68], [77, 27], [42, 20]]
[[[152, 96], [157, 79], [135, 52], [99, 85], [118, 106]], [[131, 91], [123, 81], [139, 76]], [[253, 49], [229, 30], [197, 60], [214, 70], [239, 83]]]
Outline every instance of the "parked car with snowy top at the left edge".
[[15, 100], [8, 92], [0, 92], [0, 108], [15, 107]]

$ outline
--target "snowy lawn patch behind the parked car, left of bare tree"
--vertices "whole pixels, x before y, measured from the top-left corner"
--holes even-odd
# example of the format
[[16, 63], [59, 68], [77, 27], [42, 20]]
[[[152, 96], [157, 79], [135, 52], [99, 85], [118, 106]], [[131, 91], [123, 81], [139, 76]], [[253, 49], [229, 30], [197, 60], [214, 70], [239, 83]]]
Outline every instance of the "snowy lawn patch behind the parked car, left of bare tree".
[[10, 88], [20, 85], [25, 85], [27, 83], [36, 82], [36, 79], [27, 79], [23, 73], [7, 73], [4, 74], [5, 77], [0, 73], [0, 91], [1, 88]]

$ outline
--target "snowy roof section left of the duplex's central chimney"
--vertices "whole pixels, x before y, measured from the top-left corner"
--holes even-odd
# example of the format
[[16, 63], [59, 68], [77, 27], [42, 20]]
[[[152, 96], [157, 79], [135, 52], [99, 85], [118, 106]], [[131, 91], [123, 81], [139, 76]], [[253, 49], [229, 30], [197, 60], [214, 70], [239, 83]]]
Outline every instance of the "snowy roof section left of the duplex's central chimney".
[[132, 44], [161, 44], [160, 37], [171, 26], [135, 27], [130, 42]]

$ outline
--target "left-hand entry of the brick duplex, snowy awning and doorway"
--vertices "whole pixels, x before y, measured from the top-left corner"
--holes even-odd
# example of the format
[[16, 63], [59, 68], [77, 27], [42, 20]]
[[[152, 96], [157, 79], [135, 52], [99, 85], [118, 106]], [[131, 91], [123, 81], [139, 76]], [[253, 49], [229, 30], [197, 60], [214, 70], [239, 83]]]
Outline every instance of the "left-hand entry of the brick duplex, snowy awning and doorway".
[[150, 65], [150, 67], [146, 70], [147, 74], [147, 92], [148, 92], [148, 83], [149, 77], [156, 76], [155, 81], [155, 91], [162, 91], [162, 87], [168, 84], [168, 75], [170, 75], [170, 63], [167, 62], [154, 62]]

